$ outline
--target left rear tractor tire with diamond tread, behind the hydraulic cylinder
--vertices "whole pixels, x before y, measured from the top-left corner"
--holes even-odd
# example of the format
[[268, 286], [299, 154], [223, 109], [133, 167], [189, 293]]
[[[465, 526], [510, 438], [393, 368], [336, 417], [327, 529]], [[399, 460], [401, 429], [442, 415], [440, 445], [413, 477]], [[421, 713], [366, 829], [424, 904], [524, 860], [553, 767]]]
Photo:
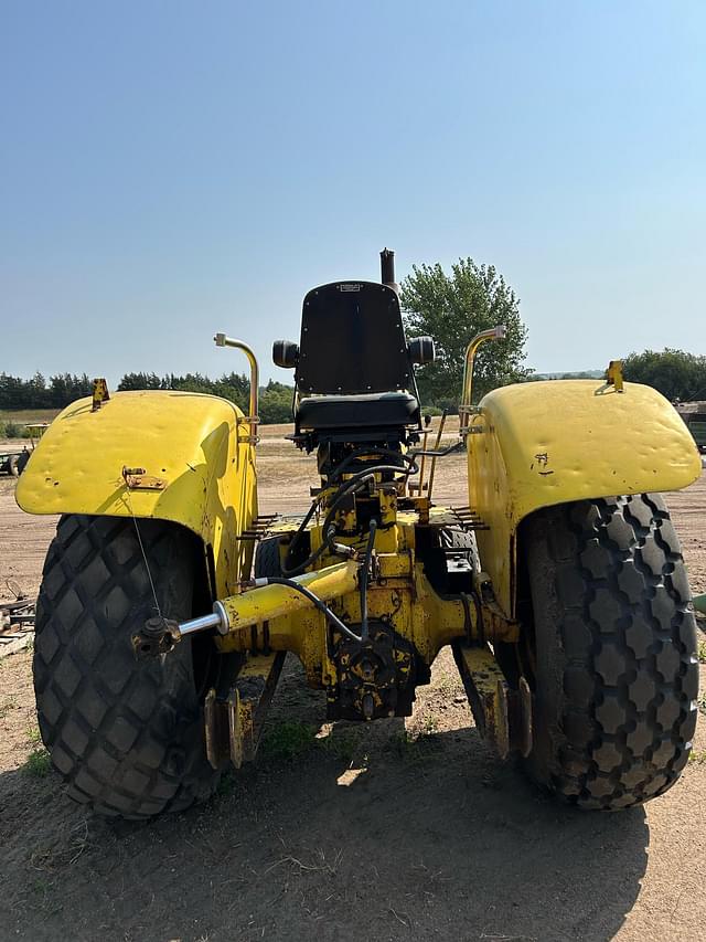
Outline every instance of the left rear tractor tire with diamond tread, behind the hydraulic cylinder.
[[[158, 520], [139, 528], [162, 614], [190, 617], [201, 585], [195, 539]], [[206, 760], [202, 703], [227, 658], [203, 635], [137, 660], [131, 636], [153, 614], [135, 522], [63, 517], [40, 589], [34, 688], [54, 766], [69, 796], [98, 814], [182, 811], [221, 775]]]

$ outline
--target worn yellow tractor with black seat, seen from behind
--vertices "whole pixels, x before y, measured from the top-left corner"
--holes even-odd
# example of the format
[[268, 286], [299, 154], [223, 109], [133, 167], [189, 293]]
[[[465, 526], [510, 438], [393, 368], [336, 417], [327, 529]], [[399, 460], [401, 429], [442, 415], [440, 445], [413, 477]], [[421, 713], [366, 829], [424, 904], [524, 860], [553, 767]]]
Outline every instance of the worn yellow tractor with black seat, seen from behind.
[[[206, 798], [255, 755], [287, 652], [329, 720], [409, 716], [451, 645], [479, 733], [580, 808], [665, 792], [687, 762], [698, 666], [691, 593], [660, 491], [700, 474], [654, 390], [536, 382], [472, 401], [427, 447], [392, 253], [382, 283], [309, 292], [292, 446], [315, 453], [303, 518], [257, 508], [258, 371], [249, 414], [210, 395], [98, 383], [52, 423], [17, 489], [61, 514], [36, 614], [42, 738], [68, 794], [145, 818]], [[76, 447], [76, 443], [81, 447]], [[429, 469], [462, 452], [468, 501]], [[282, 508], [286, 511], [287, 508]], [[255, 548], [257, 550], [254, 552]]]

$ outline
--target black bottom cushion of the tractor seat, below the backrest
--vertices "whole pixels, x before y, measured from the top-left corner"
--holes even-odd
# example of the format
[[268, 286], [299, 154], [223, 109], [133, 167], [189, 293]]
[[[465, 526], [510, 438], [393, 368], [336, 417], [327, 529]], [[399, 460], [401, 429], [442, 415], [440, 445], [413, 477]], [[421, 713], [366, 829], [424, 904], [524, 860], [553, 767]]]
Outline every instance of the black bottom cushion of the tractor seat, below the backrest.
[[299, 428], [375, 428], [413, 425], [419, 403], [408, 392], [366, 395], [321, 395], [302, 399], [296, 415]]

